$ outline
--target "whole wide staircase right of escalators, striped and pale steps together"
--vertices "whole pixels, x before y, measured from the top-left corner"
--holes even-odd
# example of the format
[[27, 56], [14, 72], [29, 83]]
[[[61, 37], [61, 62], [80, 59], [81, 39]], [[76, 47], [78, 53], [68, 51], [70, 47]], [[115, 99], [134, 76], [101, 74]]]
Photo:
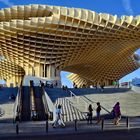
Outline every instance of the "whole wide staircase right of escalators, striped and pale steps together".
[[[77, 113], [74, 113], [74, 108], [78, 109], [79, 112], [85, 114], [88, 110], [89, 104], [92, 104], [94, 111], [93, 116], [96, 116], [97, 102], [100, 102], [103, 106], [101, 115], [108, 117], [114, 104], [120, 102], [121, 111], [123, 116], [140, 116], [138, 111], [140, 107], [140, 94], [134, 93], [128, 88], [110, 88], [105, 87], [104, 92], [100, 89], [94, 88], [81, 88], [81, 89], [69, 89], [76, 96], [70, 97], [69, 91], [63, 89], [53, 88], [45, 89], [48, 96], [51, 98], [53, 103], [58, 106], [62, 105], [62, 111], [64, 113], [64, 121], [72, 121], [74, 119], [82, 119], [82, 117], [76, 117]], [[92, 102], [90, 102], [88, 98]], [[85, 101], [86, 100], [86, 101]], [[105, 108], [105, 109], [104, 109]]]

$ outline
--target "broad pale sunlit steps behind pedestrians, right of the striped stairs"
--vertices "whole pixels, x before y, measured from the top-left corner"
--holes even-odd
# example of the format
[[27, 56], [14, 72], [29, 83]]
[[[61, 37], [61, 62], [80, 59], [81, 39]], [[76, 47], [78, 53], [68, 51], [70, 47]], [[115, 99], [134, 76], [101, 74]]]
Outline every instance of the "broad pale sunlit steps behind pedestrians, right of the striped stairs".
[[[130, 116], [130, 117], [140, 116], [140, 113], [139, 113], [140, 94], [137, 94], [130, 89], [126, 89], [126, 88], [112, 89], [111, 88], [111, 89], [107, 89], [106, 92], [93, 93], [93, 94], [80, 93], [80, 92], [78, 93], [76, 92], [76, 90], [77, 89], [74, 89], [73, 91], [75, 92], [73, 93], [80, 96], [71, 97], [68, 99], [73, 103], [74, 106], [76, 106], [82, 112], [85, 112], [89, 104], [92, 104], [92, 106], [94, 107], [93, 116], [96, 116], [96, 111], [95, 111], [95, 109], [97, 108], [96, 103], [100, 102], [101, 106], [103, 106], [107, 110], [106, 111], [105, 109], [102, 108], [101, 115], [108, 117], [108, 115], [110, 115], [109, 112], [111, 112], [115, 103], [120, 102], [122, 116]], [[87, 103], [82, 100], [82, 98], [85, 98], [85, 97], [89, 99], [87, 100]], [[90, 102], [90, 100], [92, 102]]]

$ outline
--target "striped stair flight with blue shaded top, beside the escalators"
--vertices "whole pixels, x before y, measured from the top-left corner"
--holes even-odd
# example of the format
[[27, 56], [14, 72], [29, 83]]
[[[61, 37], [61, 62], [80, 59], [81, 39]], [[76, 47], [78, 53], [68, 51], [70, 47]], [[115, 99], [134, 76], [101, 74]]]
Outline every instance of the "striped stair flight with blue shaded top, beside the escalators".
[[58, 107], [59, 104], [62, 106], [64, 122], [86, 119], [86, 114], [73, 106], [72, 102], [67, 99], [67, 97], [70, 97], [69, 91], [61, 88], [45, 88], [45, 90], [55, 107]]

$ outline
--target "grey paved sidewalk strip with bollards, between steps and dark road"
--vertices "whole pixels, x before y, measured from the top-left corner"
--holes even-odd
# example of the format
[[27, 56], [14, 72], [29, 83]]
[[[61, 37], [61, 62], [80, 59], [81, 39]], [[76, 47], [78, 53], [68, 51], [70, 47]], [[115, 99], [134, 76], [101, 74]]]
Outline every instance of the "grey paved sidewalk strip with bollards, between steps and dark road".
[[[53, 128], [52, 123], [49, 122], [47, 134], [72, 134], [81, 132], [102, 132], [111, 130], [131, 130], [140, 129], [140, 118], [130, 118], [129, 128], [127, 127], [126, 119], [123, 118], [120, 125], [116, 126], [112, 122], [113, 120], [104, 120], [104, 126], [102, 129], [102, 123], [87, 124], [86, 121], [77, 122], [77, 131], [75, 130], [75, 122], [66, 123], [65, 128], [57, 127]], [[46, 134], [46, 122], [45, 121], [31, 121], [19, 123], [19, 135], [27, 134]], [[16, 124], [13, 123], [0, 123], [0, 136], [4, 135], [16, 135]]]

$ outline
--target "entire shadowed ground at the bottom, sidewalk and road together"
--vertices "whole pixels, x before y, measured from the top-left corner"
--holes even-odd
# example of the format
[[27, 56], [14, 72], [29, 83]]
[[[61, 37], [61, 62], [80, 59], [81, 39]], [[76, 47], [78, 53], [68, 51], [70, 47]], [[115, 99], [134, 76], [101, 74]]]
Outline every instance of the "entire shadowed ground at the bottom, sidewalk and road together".
[[[126, 119], [121, 120], [120, 125], [115, 126], [112, 120], [104, 121], [104, 128], [101, 124], [87, 124], [86, 121], [77, 122], [77, 131], [75, 131], [75, 123], [66, 123], [65, 128], [53, 128], [51, 123], [46, 132], [46, 122], [23, 122], [19, 123], [19, 134], [16, 134], [16, 124], [1, 123], [0, 124], [0, 140], [16, 140], [16, 139], [104, 139], [104, 140], [138, 140], [140, 139], [140, 118], [130, 118], [129, 128], [126, 125]], [[117, 139], [117, 140], [118, 140]]]

